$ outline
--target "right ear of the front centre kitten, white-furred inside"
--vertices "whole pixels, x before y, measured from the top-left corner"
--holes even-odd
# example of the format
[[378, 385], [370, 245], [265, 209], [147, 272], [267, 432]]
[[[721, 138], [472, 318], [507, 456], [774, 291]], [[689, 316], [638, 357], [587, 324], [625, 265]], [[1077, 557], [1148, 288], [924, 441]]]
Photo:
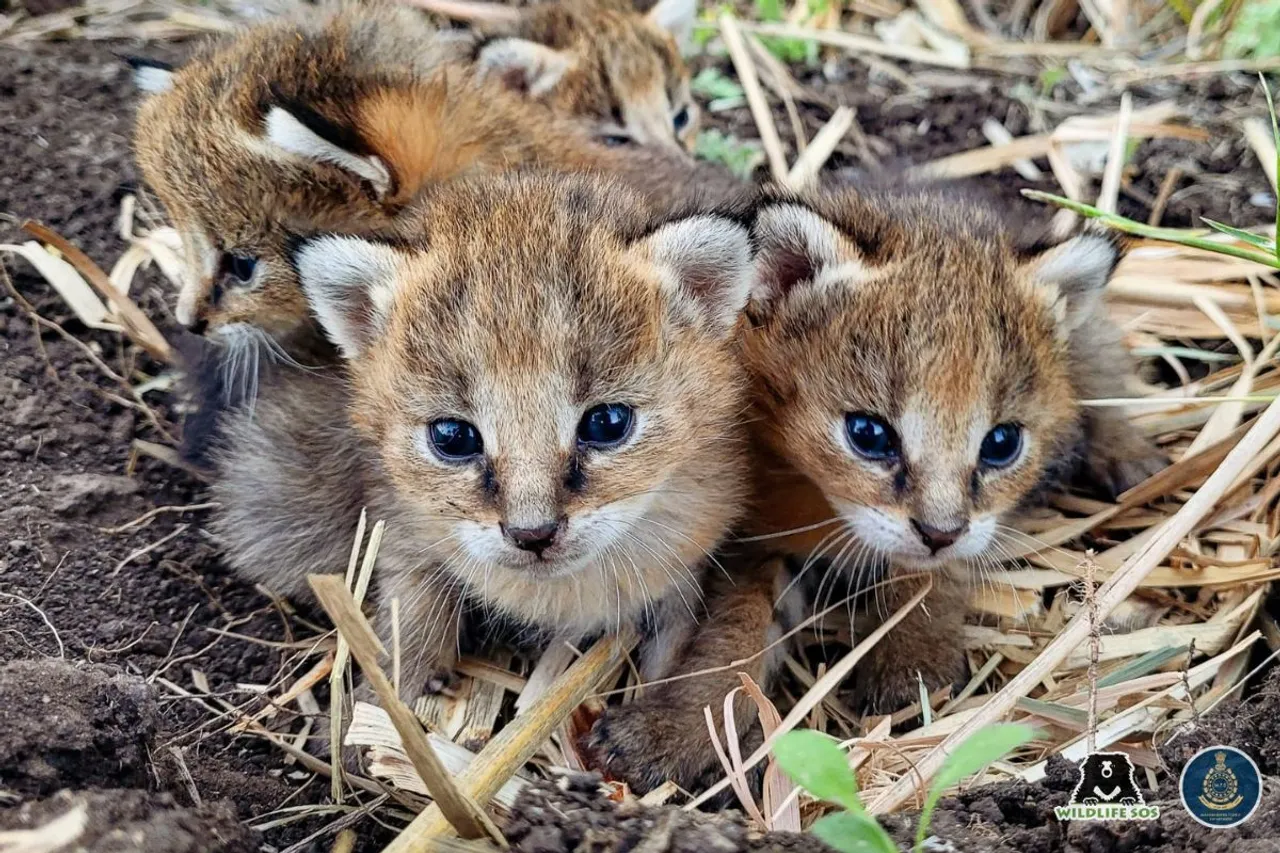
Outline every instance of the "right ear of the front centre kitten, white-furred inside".
[[728, 336], [751, 289], [751, 237], [723, 216], [671, 222], [631, 248], [658, 266], [681, 316]]

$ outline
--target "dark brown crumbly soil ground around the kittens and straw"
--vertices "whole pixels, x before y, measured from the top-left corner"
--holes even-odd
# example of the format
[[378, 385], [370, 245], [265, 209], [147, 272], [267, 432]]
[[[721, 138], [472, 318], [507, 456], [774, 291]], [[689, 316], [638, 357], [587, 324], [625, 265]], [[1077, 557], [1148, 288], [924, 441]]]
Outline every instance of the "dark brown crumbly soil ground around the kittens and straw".
[[[128, 143], [134, 93], [116, 53], [173, 59], [182, 50], [83, 41], [0, 49], [0, 211], [42, 220], [108, 266], [122, 251], [119, 201], [137, 182]], [[977, 87], [972, 81], [952, 85], [946, 74], [915, 81], [928, 83], [929, 92], [904, 92], [849, 60], [827, 74], [801, 76], [813, 90], [814, 102], [801, 102], [809, 136], [832, 106], [858, 108], [860, 141], [841, 147], [833, 169], [867, 169], [867, 151], [884, 164], [901, 164], [975, 147], [984, 143], [980, 123], [988, 115], [1014, 134], [1038, 129], [1034, 113], [1006, 91], [1005, 81]], [[1257, 109], [1254, 88], [1249, 79], [1216, 79], [1134, 95], [1139, 105], [1170, 96], [1198, 102], [1199, 123], [1212, 133], [1240, 110]], [[1065, 93], [1055, 99], [1069, 100]], [[786, 115], [778, 118], [787, 128]], [[713, 114], [708, 122], [754, 136], [745, 110]], [[1236, 137], [1143, 143], [1123, 211], [1144, 219], [1165, 173], [1176, 165], [1187, 177], [1165, 224], [1189, 225], [1202, 215], [1239, 225], [1265, 220], [1268, 207], [1254, 199], [1265, 178]], [[791, 145], [786, 132], [783, 140]], [[984, 183], [1010, 205], [1027, 204], [1016, 193], [1027, 183], [1012, 173]], [[1051, 182], [1042, 188], [1056, 190]], [[0, 242], [20, 240], [12, 223], [0, 220]], [[216, 710], [210, 703], [218, 699], [252, 703], [251, 685], [280, 678], [292, 658], [270, 643], [293, 639], [291, 619], [221, 566], [215, 543], [201, 530], [205, 511], [182, 508], [204, 501], [201, 483], [131, 452], [134, 439], [170, 443], [180, 416], [164, 393], [148, 394], [157, 428], [124, 402], [120, 383], [104, 368], [137, 384], [159, 366], [118, 336], [82, 328], [23, 263], [5, 265], [17, 293], [0, 293], [0, 829], [40, 825], [82, 803], [90, 813], [84, 849], [238, 852], [302, 841], [332, 816], [275, 826], [261, 836], [246, 822], [282, 806], [323, 802], [326, 785], [310, 781], [310, 774], [260, 740], [220, 734], [225, 719], [209, 710]], [[175, 339], [160, 279], [143, 278], [134, 296]], [[67, 334], [37, 327], [28, 309]], [[156, 507], [168, 508], [115, 530]], [[198, 674], [212, 695], [198, 702], [179, 695], [197, 692]], [[1280, 704], [1272, 693], [1261, 695], [1271, 712], [1252, 719], [1274, 727]], [[1265, 756], [1265, 772], [1280, 774], [1274, 739], [1260, 742], [1254, 754]], [[1153, 827], [1062, 827], [1048, 816], [1065, 799], [1069, 771], [1059, 767], [1044, 785], [977, 790], [948, 800], [936, 830], [954, 839], [956, 849], [975, 850], [1280, 849], [1267, 840], [1280, 836], [1280, 827], [1276, 811], [1266, 807], [1258, 820], [1212, 838], [1176, 808]], [[59, 794], [61, 789], [74, 793]], [[581, 792], [557, 802], [550, 809], [544, 802], [540, 812], [529, 804], [509, 827], [517, 849], [586, 849], [563, 815], [594, 813], [603, 833], [630, 839], [591, 849], [630, 849], [636, 831], [648, 838], [655, 826], [671, 829], [671, 821], [685, 820], [664, 817], [669, 812], [620, 817]], [[562, 817], [548, 818], [548, 811]], [[765, 844], [736, 826], [717, 830], [727, 847], [714, 849]], [[897, 829], [908, 838], [909, 831]], [[388, 835], [366, 821], [361, 838], [372, 848]], [[330, 844], [321, 836], [314, 849]], [[777, 841], [768, 844], [781, 849]], [[672, 843], [645, 849], [712, 848]]]

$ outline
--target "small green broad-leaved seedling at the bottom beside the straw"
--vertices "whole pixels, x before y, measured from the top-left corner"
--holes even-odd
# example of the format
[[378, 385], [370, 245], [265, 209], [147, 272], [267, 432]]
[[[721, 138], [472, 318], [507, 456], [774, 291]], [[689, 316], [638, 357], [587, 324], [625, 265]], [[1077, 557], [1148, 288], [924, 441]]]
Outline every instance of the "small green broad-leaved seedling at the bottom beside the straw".
[[[916, 853], [924, 849], [929, 820], [942, 792], [1004, 758], [1037, 734], [1028, 725], [997, 724], [975, 731], [947, 756], [920, 811], [915, 831]], [[819, 731], [790, 731], [773, 747], [773, 754], [797, 785], [818, 799], [844, 808], [815, 822], [812, 827], [814, 835], [841, 853], [897, 853], [893, 839], [876, 822], [859, 798], [858, 779], [835, 740]]]

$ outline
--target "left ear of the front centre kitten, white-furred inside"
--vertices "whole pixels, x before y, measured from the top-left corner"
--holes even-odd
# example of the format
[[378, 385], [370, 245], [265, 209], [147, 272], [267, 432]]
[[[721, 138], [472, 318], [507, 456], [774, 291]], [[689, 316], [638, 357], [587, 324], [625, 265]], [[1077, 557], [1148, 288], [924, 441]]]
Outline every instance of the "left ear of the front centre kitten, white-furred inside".
[[292, 255], [325, 336], [355, 359], [387, 328], [401, 254], [358, 237], [325, 236], [297, 241]]

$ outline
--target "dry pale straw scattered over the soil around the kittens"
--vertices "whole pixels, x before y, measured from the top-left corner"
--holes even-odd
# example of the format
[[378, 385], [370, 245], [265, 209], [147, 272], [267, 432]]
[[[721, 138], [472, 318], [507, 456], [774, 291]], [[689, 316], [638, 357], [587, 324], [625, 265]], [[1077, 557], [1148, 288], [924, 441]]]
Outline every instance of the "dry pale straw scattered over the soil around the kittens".
[[[833, 110], [827, 128], [788, 164], [765, 90], [780, 101], [790, 90], [785, 81], [777, 87], [760, 83], [762, 72], [778, 79], [773, 73], [777, 69], [762, 67], [767, 61], [762, 61], [758, 40], [764, 36], [813, 40], [833, 54], [851, 51], [873, 68], [884, 67], [886, 60], [911, 60], [916, 64], [888, 64], [886, 70], [908, 82], [914, 74], [937, 68], [1021, 78], [1037, 74], [1038, 63], [1071, 60], [1076, 69], [1103, 76], [1106, 82], [1098, 86], [1116, 92], [1139, 81], [1276, 67], [1272, 60], [1220, 58], [1216, 51], [1221, 32], [1189, 27], [1176, 15], [1162, 13], [1161, 3], [1108, 4], [1110, 14], [1098, 13], [1097, 4], [1084, 4], [1092, 28], [1085, 38], [1075, 41], [1066, 40], [1071, 19], [1066, 12], [1074, 9], [1074, 3], [1015, 5], [1021, 12], [1002, 26], [989, 17], [972, 24], [950, 0], [854, 3], [845, 13], [813, 12], [801, 3], [782, 22], [724, 17], [716, 26], [744, 85], [771, 173], [797, 186], [814, 179], [840, 140], [855, 127], [855, 117], [844, 108]], [[458, 15], [485, 14], [483, 4], [434, 8]], [[242, 9], [227, 3], [192, 6], [111, 0], [38, 19], [17, 14], [3, 18], [0, 40], [106, 38], [125, 31], [172, 38], [221, 32], [242, 17]], [[1012, 38], [1009, 29], [1024, 37]], [[1181, 61], [1171, 63], [1171, 58]], [[1197, 105], [1185, 99], [1132, 108], [1125, 99], [1119, 110], [1075, 105], [1073, 114], [1051, 129], [1020, 138], [1001, 133], [998, 117], [992, 117], [995, 127], [987, 128], [989, 146], [922, 163], [916, 169], [932, 175], [973, 177], [1005, 168], [1025, 174], [1027, 169], [1041, 172], [1047, 165], [1064, 195], [1114, 207], [1124, 187], [1129, 140], [1172, 137], [1212, 143], [1194, 122], [1184, 120], [1188, 111], [1196, 110]], [[1274, 181], [1270, 132], [1254, 118], [1242, 120], [1238, 132], [1257, 151]], [[1100, 151], [1105, 163], [1102, 191], [1088, 199], [1100, 177], [1093, 173], [1096, 164], [1091, 165]], [[1174, 183], [1176, 178], [1166, 181], [1167, 190], [1161, 190], [1153, 220], [1158, 222]], [[140, 347], [165, 360], [168, 345], [131, 302], [128, 282], [140, 266], [152, 263], [170, 277], [175, 274], [172, 233], [127, 229], [122, 261], [111, 275], [55, 234], [36, 233], [44, 247], [28, 243], [13, 251], [37, 263], [86, 325], [123, 329]], [[1221, 236], [1212, 240], [1229, 241]], [[1121, 749], [1138, 766], [1158, 770], [1158, 744], [1239, 692], [1260, 646], [1271, 654], [1280, 652], [1280, 625], [1263, 607], [1272, 581], [1280, 578], [1277, 284], [1276, 272], [1260, 264], [1137, 241], [1111, 284], [1112, 314], [1134, 351], [1151, 365], [1167, 364], [1178, 380], [1170, 387], [1139, 384], [1132, 397], [1088, 405], [1128, 407], [1133, 421], [1169, 452], [1174, 464], [1115, 503], [1061, 494], [1018, 523], [1002, 584], [974, 590], [974, 617], [965, 635], [974, 676], [955, 698], [945, 693], [922, 695], [920, 702], [892, 717], [861, 719], [841, 701], [838, 688], [852, 663], [883, 631], [852, 643], [854, 628], [838, 624], [842, 607], [831, 608], [835, 612], [829, 619], [804, 626], [801, 633], [809, 640], [842, 640], [854, 651], [829, 669], [790, 656], [785, 684], [772, 697], [781, 713], [772, 711], [768, 701], [762, 703], [771, 730], [765, 747], [742, 761], [732, 743], [736, 733], [717, 733], [731, 740], [724, 757], [730, 771], [712, 792], [690, 792], [692, 803], [727, 786], [748, 799], [741, 774], [767, 758], [768, 743], [796, 726], [824, 729], [844, 740], [864, 798], [876, 812], [911, 806], [947, 751], [968, 733], [996, 720], [1033, 722], [1043, 736], [974, 783], [1037, 780], [1044, 775], [1050, 756], [1080, 758], [1094, 744]], [[1194, 365], [1203, 368], [1196, 371]], [[120, 379], [111, 375], [113, 380]], [[129, 400], [141, 402], [136, 393]], [[169, 508], [174, 507], [156, 512]], [[376, 551], [376, 546], [372, 548]], [[356, 565], [353, 552], [348, 585]], [[366, 566], [371, 567], [372, 561], [367, 560]], [[362, 592], [369, 584], [367, 570], [360, 578], [355, 588]], [[1082, 581], [1089, 580], [1092, 590], [1094, 579], [1100, 587], [1085, 596]], [[357, 593], [356, 601], [360, 597]], [[475, 815], [466, 803], [474, 800], [500, 811], [509, 807], [532, 775], [581, 767], [585, 762], [577, 736], [588, 730], [605, 697], [621, 692], [631, 698], [643, 689], [625, 662], [630, 639], [603, 642], [585, 654], [556, 647], [540, 661], [513, 656], [465, 661], [454, 692], [425, 699], [415, 708], [430, 738], [411, 736], [408, 748], [403, 713], [394, 715], [398, 720], [393, 725], [385, 713], [357, 706], [349, 739], [369, 748], [375, 777], [346, 776], [301, 747], [306, 735], [323, 724], [311, 689], [328, 678], [335, 697], [333, 707], [340, 707], [347, 644], [361, 649], [356, 656], [365, 656], [361, 663], [366, 670], [376, 670], [376, 653], [367, 643], [356, 644], [357, 616], [358, 611], [347, 612], [346, 621], [339, 621], [342, 637], [337, 642], [332, 635], [320, 635], [294, 643], [289, 671], [278, 683], [262, 685], [252, 711], [247, 704], [212, 695], [207, 685], [196, 683], [192, 690], [155, 679], [174, 694], [206, 707], [215, 721], [211, 727], [264, 738], [291, 762], [329, 776], [332, 800], [348, 803], [339, 812], [329, 812], [339, 813], [326, 830], [333, 835], [349, 833], [353, 820], [372, 816], [396, 826], [407, 825], [389, 849], [425, 849], [429, 838], [449, 829], [442, 812], [453, 816], [454, 826], [462, 825], [475, 835], [477, 827], [486, 827], [484, 821], [468, 822]], [[390, 680], [396, 680], [396, 649], [392, 652]], [[750, 693], [751, 686], [745, 689]], [[596, 689], [602, 693], [593, 694]], [[513, 717], [504, 711], [512, 694], [518, 708]], [[424, 749], [438, 756], [434, 763], [424, 760]], [[430, 768], [416, 772], [415, 767], [426, 766], [424, 761]], [[431, 790], [439, 793], [440, 785], [422, 776], [439, 774], [442, 767], [456, 781], [456, 792], [449, 789], [445, 797], [452, 803], [448, 809], [428, 806], [424, 799]], [[620, 799], [630, 795], [618, 785], [612, 790]], [[671, 789], [657, 792], [654, 800], [672, 794]], [[776, 779], [765, 802], [745, 806], [764, 826], [795, 827], [801, 816], [808, 824], [819, 811], [808, 799], [800, 802], [797, 811], [796, 794]], [[330, 807], [301, 808], [280, 820], [324, 808]], [[28, 840], [0, 838], [0, 847]]]

